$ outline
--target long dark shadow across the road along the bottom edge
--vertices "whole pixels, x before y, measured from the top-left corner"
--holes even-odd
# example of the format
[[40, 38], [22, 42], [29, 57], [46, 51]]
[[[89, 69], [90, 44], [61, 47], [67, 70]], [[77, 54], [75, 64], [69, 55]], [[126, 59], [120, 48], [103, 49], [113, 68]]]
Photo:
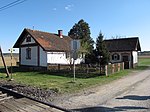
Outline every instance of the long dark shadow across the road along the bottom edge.
[[117, 111], [127, 111], [127, 110], [141, 110], [141, 109], [148, 109], [146, 107], [136, 107], [136, 106], [120, 106], [120, 107], [87, 107], [87, 108], [80, 108], [80, 109], [73, 109], [75, 112], [117, 112]]

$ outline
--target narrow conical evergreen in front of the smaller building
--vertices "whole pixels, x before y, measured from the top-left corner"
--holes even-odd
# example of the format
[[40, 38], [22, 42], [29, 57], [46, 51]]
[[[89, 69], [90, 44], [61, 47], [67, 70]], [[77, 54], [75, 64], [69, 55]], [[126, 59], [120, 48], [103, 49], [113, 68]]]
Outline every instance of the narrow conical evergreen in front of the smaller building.
[[97, 57], [101, 56], [101, 57], [99, 57], [99, 58], [101, 58], [100, 59], [101, 65], [107, 65], [109, 63], [110, 54], [109, 54], [109, 51], [105, 45], [103, 38], [104, 38], [104, 36], [100, 32], [99, 36], [96, 39], [96, 55], [97, 55]]

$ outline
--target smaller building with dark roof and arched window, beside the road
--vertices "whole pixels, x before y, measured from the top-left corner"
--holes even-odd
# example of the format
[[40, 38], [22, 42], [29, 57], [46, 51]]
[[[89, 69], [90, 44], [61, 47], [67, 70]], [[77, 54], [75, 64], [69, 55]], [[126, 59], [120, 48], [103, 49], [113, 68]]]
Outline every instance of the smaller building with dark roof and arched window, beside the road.
[[141, 51], [138, 37], [105, 40], [110, 52], [110, 62], [124, 62], [125, 69], [138, 64], [138, 51]]

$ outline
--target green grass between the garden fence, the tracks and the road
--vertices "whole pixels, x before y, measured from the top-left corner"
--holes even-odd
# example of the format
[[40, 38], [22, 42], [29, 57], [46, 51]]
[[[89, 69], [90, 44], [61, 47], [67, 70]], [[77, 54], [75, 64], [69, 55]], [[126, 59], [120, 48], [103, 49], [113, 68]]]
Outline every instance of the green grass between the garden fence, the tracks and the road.
[[[140, 67], [150, 65], [150, 59], [140, 59]], [[141, 69], [141, 68], [137, 69]], [[136, 69], [136, 70], [137, 70]], [[143, 68], [145, 69], [145, 68]], [[142, 69], [142, 70], [143, 70]], [[90, 88], [96, 85], [109, 83], [121, 78], [133, 70], [123, 70], [108, 77], [95, 74], [77, 74], [76, 81], [73, 82], [73, 73], [51, 73], [51, 72], [20, 72], [14, 70], [13, 79], [16, 83], [36, 86], [40, 88], [53, 89], [58, 93], [73, 93], [83, 88]], [[93, 77], [92, 77], [93, 76]], [[5, 73], [0, 72], [0, 80], [8, 80]], [[89, 77], [89, 78], [87, 78]]]

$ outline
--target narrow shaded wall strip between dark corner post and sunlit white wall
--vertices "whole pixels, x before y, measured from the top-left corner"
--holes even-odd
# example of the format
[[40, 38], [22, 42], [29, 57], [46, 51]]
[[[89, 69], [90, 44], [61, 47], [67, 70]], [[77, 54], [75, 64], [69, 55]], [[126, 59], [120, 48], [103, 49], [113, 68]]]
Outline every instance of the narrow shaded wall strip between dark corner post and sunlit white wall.
[[47, 52], [40, 47], [40, 66], [47, 67]]

